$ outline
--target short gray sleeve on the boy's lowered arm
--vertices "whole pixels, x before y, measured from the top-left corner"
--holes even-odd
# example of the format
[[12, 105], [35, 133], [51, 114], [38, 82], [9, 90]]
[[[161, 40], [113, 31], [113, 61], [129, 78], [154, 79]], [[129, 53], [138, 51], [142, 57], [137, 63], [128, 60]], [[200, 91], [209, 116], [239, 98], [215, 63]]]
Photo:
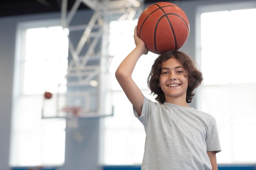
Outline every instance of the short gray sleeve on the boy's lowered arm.
[[206, 137], [207, 151], [221, 151], [220, 140], [217, 130], [216, 120], [212, 118], [209, 122], [208, 135]]

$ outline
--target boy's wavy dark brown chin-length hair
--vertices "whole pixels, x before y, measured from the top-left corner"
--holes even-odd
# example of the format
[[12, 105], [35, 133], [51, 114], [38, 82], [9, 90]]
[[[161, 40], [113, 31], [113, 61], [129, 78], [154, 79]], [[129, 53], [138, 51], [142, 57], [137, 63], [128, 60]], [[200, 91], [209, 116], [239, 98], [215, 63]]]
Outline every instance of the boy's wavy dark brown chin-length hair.
[[162, 71], [162, 62], [165, 62], [171, 58], [175, 58], [177, 61], [179, 61], [188, 73], [189, 85], [186, 92], [186, 102], [191, 103], [193, 96], [195, 95], [193, 91], [201, 84], [203, 77], [202, 73], [198, 70], [198, 68], [196, 67], [196, 63], [193, 62], [191, 57], [181, 51], [168, 51], [157, 57], [151, 68], [147, 80], [148, 87], [151, 90], [150, 94], [157, 95], [157, 97], [155, 97], [155, 100], [159, 103], [163, 104], [165, 102], [164, 92], [159, 86], [159, 77]]

